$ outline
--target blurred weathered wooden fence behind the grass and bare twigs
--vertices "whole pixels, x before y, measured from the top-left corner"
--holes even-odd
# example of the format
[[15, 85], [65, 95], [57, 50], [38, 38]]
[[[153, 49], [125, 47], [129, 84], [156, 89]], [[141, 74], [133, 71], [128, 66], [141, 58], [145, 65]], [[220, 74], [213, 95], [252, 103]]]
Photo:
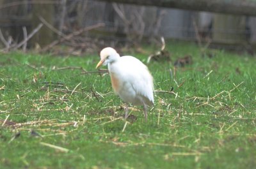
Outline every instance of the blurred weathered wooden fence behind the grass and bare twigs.
[[[104, 23], [104, 29], [96, 32], [97, 37], [131, 41], [141, 40], [143, 36], [195, 40], [197, 27], [202, 38], [221, 43], [248, 43], [256, 41], [256, 24], [255, 18], [244, 15], [255, 16], [255, 9], [256, 3], [226, 0], [0, 0], [0, 29], [6, 40], [21, 41], [22, 27], [31, 32], [42, 19], [52, 29], [65, 34]], [[30, 44], [44, 47], [56, 40], [59, 35], [52, 29], [43, 26]]]

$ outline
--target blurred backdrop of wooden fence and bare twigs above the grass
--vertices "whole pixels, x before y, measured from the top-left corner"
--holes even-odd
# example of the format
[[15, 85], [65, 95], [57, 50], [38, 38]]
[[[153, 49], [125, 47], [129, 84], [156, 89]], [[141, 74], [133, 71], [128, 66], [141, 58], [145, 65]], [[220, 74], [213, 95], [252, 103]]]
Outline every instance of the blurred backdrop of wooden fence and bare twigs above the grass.
[[0, 49], [81, 55], [186, 40], [253, 54], [254, 0], [0, 0]]

